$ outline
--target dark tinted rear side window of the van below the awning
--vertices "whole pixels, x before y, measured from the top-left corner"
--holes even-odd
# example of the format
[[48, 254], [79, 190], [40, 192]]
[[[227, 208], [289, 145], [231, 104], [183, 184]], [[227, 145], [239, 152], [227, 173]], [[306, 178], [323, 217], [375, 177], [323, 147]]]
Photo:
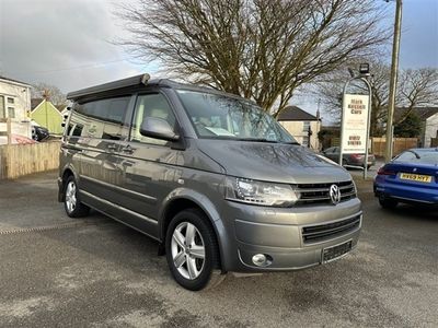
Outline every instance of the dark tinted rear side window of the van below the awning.
[[120, 140], [130, 96], [76, 104], [70, 119], [72, 136]]

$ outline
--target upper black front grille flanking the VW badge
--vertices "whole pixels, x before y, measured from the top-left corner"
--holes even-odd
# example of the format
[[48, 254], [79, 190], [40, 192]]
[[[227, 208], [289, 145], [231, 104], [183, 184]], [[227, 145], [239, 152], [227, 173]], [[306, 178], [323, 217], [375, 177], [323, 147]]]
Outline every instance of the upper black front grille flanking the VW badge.
[[297, 204], [328, 204], [332, 203], [330, 199], [330, 187], [336, 185], [339, 187], [341, 201], [356, 197], [356, 189], [353, 181], [342, 181], [333, 184], [299, 184], [297, 185], [300, 199]]

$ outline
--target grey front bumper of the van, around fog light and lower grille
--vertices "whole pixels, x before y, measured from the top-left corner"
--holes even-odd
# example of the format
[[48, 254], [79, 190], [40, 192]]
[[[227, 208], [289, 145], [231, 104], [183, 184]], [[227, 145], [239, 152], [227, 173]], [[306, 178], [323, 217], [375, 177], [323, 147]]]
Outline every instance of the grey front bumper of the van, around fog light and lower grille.
[[[227, 271], [265, 272], [298, 270], [323, 262], [322, 251], [350, 241], [351, 249], [357, 245], [361, 229], [360, 201], [355, 198], [337, 206], [302, 207], [291, 209], [266, 209], [263, 207], [230, 203], [234, 212], [233, 239]], [[230, 216], [229, 216], [230, 218]], [[358, 224], [341, 233], [306, 242], [303, 227], [336, 225], [337, 222], [357, 218]], [[232, 247], [231, 247], [232, 245]], [[268, 257], [267, 266], [257, 266], [253, 256]]]

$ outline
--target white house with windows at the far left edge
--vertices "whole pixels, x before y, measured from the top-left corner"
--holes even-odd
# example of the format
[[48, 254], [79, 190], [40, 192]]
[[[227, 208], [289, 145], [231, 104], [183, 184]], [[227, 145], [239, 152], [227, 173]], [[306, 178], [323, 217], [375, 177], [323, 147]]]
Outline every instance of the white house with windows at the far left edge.
[[[0, 75], [0, 120], [11, 119], [14, 134], [32, 137], [31, 120], [31, 85]], [[0, 131], [5, 131], [5, 124], [0, 122]]]

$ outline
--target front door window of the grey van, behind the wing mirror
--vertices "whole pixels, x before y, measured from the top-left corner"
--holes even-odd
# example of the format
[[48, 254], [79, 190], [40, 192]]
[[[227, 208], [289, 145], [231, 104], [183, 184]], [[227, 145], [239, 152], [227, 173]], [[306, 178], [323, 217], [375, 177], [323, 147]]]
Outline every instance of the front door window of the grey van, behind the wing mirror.
[[171, 106], [162, 94], [145, 94], [137, 98], [136, 112], [132, 121], [132, 128], [130, 133], [131, 141], [153, 143], [153, 144], [166, 144], [168, 141], [155, 138], [149, 138], [141, 136], [140, 127], [146, 117], [155, 117], [165, 119], [169, 125], [175, 129], [175, 116], [172, 112]]

